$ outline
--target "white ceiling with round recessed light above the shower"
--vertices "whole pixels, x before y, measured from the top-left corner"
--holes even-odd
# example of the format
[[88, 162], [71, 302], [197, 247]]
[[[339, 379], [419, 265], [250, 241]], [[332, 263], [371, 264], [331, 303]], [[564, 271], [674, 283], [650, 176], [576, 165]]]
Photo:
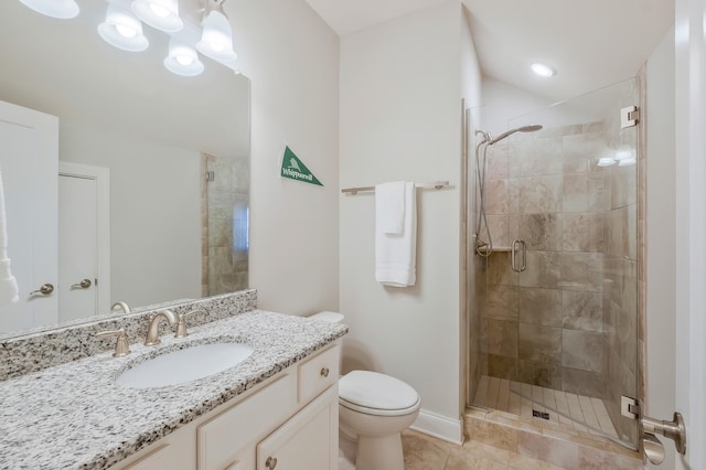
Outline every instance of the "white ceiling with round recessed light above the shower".
[[[307, 0], [341, 36], [448, 0]], [[632, 77], [674, 23], [674, 0], [462, 0], [484, 75], [552, 100]], [[552, 78], [530, 71], [557, 68]]]

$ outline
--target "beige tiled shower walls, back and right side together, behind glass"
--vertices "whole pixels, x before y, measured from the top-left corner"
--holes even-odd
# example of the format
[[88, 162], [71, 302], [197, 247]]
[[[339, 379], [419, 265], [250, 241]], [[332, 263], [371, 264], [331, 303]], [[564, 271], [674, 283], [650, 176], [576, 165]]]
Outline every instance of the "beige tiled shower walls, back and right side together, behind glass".
[[507, 252], [489, 258], [481, 365], [603, 398], [633, 440], [620, 395], [637, 396], [637, 167], [596, 164], [609, 148], [635, 148], [635, 129], [619, 128], [612, 118], [545, 128], [488, 149], [493, 245], [524, 239], [527, 269], [512, 271]]

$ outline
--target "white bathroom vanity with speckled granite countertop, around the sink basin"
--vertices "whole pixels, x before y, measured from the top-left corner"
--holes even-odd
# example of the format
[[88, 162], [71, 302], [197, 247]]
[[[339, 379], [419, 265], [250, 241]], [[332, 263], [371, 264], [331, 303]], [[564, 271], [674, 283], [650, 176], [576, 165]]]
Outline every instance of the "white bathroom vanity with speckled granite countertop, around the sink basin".
[[[115, 469], [338, 468], [340, 339], [347, 329], [254, 310], [0, 382], [2, 467]], [[116, 378], [164, 351], [218, 339], [253, 353], [169, 386]], [[141, 340], [141, 339], [137, 339]]]

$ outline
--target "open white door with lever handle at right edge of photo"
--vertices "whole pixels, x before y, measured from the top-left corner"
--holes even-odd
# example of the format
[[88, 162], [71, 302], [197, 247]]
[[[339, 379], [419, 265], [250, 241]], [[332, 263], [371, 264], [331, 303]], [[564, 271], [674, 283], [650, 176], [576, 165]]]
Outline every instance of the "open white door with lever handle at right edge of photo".
[[705, 0], [676, 0], [676, 409], [686, 456], [706, 468], [706, 18]]

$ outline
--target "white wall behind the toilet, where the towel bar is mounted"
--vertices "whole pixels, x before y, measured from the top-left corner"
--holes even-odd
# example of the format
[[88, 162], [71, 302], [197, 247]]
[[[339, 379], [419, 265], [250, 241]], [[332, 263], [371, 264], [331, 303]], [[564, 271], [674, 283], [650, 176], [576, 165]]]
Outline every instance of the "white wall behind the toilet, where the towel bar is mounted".
[[461, 21], [449, 1], [341, 39], [341, 186], [451, 183], [417, 190], [410, 288], [375, 281], [374, 196], [340, 195], [343, 367], [394, 375], [419, 392], [425, 413], [457, 423]]

